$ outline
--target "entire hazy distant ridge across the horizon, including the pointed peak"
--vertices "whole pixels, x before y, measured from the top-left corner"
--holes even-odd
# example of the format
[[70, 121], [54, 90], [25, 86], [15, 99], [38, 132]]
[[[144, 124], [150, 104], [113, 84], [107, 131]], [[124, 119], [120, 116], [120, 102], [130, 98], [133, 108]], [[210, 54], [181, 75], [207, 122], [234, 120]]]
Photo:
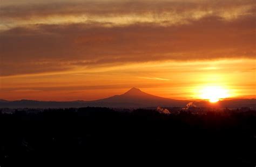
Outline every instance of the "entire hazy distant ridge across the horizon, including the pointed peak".
[[[105, 99], [93, 101], [36, 101], [36, 100], [0, 100], [0, 108], [69, 108], [69, 107], [123, 107], [123, 108], [143, 108], [143, 107], [185, 107], [188, 100], [176, 100], [158, 97], [145, 93], [137, 88], [132, 88], [122, 95], [116, 95]], [[193, 101], [192, 101], [193, 102]], [[198, 107], [211, 107], [214, 105], [207, 101], [194, 101]], [[233, 99], [219, 101], [219, 107], [256, 107], [256, 99]]]

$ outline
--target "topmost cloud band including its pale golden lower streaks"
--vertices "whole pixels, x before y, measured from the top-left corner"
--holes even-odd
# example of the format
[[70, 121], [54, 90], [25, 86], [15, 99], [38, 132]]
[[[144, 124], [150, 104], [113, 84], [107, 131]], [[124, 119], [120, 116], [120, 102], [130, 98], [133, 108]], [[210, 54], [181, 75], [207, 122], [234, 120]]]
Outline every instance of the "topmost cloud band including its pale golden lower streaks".
[[[127, 8], [129, 6], [129, 8]], [[6, 4], [0, 8], [1, 26], [28, 24], [107, 23], [106, 26], [136, 23], [188, 24], [190, 20], [217, 16], [233, 20], [255, 13], [255, 2], [244, 1], [55, 1]]]

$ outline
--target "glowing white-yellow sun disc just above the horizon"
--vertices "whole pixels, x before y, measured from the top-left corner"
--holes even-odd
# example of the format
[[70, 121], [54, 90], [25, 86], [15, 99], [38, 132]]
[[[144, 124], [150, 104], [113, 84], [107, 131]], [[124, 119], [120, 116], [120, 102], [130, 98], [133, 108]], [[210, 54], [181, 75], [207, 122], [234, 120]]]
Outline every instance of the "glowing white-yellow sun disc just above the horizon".
[[222, 88], [221, 86], [205, 86], [201, 89], [200, 92], [200, 97], [202, 99], [207, 99], [211, 103], [215, 103], [220, 99], [227, 98], [230, 96], [228, 95], [228, 90]]

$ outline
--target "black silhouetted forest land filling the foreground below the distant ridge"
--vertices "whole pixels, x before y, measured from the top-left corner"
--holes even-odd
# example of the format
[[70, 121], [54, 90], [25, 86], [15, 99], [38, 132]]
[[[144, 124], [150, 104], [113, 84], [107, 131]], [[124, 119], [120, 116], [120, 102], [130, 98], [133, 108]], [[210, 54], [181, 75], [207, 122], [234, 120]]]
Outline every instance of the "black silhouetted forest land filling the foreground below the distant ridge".
[[255, 166], [255, 111], [85, 107], [0, 114], [5, 166]]

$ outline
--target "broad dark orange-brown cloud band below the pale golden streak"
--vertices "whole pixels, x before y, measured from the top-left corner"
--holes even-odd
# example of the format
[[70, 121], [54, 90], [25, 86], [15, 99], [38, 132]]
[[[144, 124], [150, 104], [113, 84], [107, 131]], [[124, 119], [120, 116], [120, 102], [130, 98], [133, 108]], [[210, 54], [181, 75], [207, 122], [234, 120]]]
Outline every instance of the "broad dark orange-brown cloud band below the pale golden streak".
[[1, 33], [1, 75], [159, 60], [255, 57], [254, 17], [189, 25], [36, 25]]

